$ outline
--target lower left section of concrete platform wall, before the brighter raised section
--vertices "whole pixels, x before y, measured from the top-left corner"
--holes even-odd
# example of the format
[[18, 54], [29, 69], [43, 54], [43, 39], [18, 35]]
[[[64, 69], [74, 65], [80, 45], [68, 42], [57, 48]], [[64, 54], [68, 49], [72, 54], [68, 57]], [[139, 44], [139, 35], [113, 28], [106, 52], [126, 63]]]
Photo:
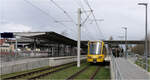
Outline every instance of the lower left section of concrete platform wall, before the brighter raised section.
[[43, 60], [37, 60], [37, 61], [30, 61], [30, 62], [24, 62], [24, 63], [14, 63], [7, 66], [0, 66], [0, 74], [8, 74], [13, 72], [19, 72], [39, 67], [48, 66], [49, 61], [48, 59]]

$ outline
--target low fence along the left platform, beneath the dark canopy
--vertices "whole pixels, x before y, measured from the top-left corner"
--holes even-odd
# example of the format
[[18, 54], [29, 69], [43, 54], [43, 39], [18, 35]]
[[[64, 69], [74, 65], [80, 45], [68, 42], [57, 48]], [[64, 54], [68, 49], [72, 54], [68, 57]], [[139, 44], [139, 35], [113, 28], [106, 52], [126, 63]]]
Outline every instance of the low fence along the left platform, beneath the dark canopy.
[[16, 61], [31, 57], [62, 57], [62, 56], [73, 56], [68, 53], [63, 53], [60, 55], [52, 54], [48, 51], [18, 51], [18, 52], [0, 52], [0, 63]]

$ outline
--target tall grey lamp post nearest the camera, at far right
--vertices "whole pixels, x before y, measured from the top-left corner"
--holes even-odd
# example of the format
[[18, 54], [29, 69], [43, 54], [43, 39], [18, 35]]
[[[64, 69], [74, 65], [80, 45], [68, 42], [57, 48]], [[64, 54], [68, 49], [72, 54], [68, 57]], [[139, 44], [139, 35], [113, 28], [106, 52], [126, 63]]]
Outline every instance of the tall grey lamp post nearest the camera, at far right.
[[144, 56], [145, 56], [145, 69], [148, 71], [148, 37], [147, 37], [147, 6], [148, 3], [138, 3], [138, 5], [145, 6], [145, 50], [144, 50]]

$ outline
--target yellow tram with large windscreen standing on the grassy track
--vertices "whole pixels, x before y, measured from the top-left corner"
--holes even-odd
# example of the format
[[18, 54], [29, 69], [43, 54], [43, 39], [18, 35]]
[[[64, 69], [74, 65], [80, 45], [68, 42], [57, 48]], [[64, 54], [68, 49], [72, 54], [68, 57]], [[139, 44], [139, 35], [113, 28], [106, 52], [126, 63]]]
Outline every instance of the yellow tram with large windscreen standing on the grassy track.
[[106, 57], [106, 47], [103, 41], [89, 41], [87, 62], [99, 63], [104, 62]]

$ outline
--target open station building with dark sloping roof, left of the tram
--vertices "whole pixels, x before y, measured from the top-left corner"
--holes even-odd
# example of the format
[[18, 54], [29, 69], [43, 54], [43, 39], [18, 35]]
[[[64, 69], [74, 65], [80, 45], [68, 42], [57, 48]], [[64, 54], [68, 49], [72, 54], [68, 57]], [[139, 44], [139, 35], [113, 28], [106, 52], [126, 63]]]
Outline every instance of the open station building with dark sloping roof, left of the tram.
[[[12, 43], [18, 52], [48, 54], [48, 56], [77, 55], [77, 41], [56, 32], [13, 32]], [[87, 45], [81, 44], [81, 54], [86, 54]]]

